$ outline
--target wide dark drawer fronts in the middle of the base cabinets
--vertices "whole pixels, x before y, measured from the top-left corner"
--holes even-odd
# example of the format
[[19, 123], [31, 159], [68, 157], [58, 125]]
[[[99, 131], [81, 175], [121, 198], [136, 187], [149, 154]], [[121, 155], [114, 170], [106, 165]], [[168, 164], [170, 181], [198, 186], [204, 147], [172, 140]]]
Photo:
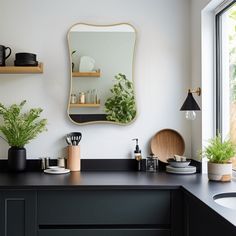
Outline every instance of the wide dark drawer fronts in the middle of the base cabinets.
[[169, 190], [39, 191], [39, 236], [170, 236], [171, 200]]

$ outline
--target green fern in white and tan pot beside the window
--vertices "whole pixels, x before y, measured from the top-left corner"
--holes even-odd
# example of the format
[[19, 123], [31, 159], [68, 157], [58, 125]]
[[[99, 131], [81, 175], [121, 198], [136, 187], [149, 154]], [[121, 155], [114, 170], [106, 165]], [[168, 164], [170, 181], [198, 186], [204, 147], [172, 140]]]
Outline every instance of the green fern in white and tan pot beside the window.
[[230, 139], [222, 140], [220, 134], [210, 139], [202, 156], [208, 159], [208, 178], [214, 181], [231, 181], [231, 158], [236, 154], [236, 147]]

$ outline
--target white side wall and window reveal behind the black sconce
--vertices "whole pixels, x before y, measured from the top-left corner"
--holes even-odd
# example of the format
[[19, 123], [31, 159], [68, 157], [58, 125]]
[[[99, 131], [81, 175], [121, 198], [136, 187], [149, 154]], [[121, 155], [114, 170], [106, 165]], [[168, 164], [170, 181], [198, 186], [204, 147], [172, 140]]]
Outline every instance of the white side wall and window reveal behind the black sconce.
[[223, 0], [191, 0], [192, 87], [202, 88], [201, 112], [192, 124], [192, 156], [214, 135], [214, 10]]

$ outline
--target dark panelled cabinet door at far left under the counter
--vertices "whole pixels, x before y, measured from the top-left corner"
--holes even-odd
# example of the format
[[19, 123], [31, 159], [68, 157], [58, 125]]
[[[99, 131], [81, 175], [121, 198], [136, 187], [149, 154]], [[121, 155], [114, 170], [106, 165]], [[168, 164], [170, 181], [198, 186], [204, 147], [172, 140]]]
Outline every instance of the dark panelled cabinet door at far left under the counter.
[[34, 191], [0, 191], [0, 235], [36, 236]]

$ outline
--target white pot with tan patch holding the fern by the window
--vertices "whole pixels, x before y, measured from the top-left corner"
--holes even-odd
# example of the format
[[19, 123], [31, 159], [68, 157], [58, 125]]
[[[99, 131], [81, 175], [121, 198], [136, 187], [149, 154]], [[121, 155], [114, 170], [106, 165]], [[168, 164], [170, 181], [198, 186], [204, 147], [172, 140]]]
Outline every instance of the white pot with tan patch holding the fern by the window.
[[232, 163], [208, 162], [208, 179], [213, 181], [228, 182], [232, 179]]

